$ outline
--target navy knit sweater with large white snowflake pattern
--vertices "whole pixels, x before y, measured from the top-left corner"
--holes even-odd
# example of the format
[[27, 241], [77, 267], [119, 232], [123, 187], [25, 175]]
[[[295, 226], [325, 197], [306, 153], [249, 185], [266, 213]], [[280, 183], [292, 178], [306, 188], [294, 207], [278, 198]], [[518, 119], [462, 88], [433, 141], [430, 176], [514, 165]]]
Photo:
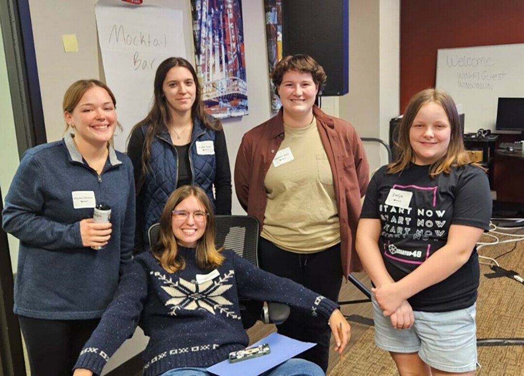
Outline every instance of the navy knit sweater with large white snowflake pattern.
[[127, 267], [113, 302], [86, 342], [74, 369], [100, 374], [105, 364], [137, 325], [149, 336], [144, 375], [180, 367], [209, 367], [245, 348], [238, 295], [258, 301], [286, 303], [328, 318], [337, 304], [291, 280], [277, 277], [224, 250], [214, 278], [198, 283], [195, 249], [179, 247], [184, 270], [168, 273], [150, 252]]

